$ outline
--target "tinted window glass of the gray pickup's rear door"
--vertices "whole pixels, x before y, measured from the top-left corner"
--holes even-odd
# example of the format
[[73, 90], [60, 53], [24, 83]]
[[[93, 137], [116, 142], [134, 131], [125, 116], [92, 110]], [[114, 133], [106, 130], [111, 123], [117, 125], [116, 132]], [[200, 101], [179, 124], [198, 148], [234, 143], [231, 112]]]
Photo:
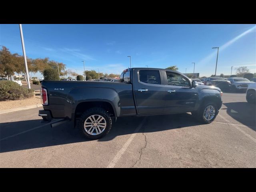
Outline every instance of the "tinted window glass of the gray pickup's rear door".
[[160, 72], [158, 70], [141, 70], [139, 72], [140, 82], [148, 84], [161, 84]]

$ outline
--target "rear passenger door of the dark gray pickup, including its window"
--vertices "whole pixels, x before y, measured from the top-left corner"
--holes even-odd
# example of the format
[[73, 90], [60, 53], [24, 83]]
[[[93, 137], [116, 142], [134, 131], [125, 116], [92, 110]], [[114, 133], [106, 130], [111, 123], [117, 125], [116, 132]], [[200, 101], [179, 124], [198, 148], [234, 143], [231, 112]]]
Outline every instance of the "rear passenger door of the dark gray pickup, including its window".
[[164, 112], [166, 87], [162, 70], [134, 69], [134, 96], [138, 114], [159, 114]]

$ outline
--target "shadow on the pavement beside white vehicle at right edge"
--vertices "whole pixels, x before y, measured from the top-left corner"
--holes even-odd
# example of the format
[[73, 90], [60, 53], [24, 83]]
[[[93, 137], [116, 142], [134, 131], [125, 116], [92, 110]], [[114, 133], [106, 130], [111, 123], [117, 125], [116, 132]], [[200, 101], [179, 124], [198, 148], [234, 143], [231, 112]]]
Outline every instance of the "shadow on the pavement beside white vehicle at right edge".
[[238, 122], [250, 126], [256, 131], [256, 105], [248, 102], [223, 103], [227, 107], [227, 113]]

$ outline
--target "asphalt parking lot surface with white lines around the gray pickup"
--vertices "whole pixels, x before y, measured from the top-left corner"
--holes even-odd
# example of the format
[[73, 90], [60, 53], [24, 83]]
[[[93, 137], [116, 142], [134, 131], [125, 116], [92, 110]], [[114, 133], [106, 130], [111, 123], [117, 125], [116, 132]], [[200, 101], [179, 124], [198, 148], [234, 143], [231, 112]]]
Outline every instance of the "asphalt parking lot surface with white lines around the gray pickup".
[[0, 167], [256, 167], [255, 104], [224, 93], [214, 122], [188, 113], [118, 118], [110, 133], [88, 140], [64, 124], [41, 124], [34, 108], [0, 116]]

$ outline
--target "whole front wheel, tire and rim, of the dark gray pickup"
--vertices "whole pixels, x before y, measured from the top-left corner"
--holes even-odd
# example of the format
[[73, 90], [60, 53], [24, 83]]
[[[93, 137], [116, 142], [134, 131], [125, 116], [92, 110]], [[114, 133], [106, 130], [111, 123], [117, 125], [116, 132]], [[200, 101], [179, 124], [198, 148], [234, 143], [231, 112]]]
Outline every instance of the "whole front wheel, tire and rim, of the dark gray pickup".
[[192, 112], [192, 115], [200, 122], [209, 124], [214, 121], [218, 114], [216, 104], [209, 102], [200, 107], [197, 111]]

